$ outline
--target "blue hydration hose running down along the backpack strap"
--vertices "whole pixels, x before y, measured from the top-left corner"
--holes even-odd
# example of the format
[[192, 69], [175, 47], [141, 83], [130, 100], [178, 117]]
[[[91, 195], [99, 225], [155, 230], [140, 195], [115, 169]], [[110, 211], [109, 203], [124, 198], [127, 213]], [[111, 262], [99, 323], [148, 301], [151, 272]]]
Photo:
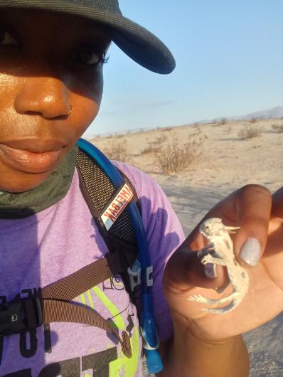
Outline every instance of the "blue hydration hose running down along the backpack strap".
[[[89, 154], [105, 171], [107, 176], [112, 180], [117, 188], [124, 184], [124, 179], [115, 168], [112, 162], [90, 142], [85, 139], [79, 139], [77, 145], [80, 149]], [[156, 325], [153, 317], [152, 308], [152, 265], [149, 257], [149, 247], [146, 241], [146, 233], [142, 218], [135, 203], [130, 203], [128, 213], [132, 221], [134, 233], [137, 238], [139, 254], [137, 261], [132, 267], [133, 272], [138, 272], [140, 268], [142, 280], [142, 316], [141, 316], [141, 332], [143, 339], [144, 352], [146, 354], [146, 363], [149, 373], [159, 373], [163, 369], [161, 357], [158, 351], [159, 338], [156, 332]]]

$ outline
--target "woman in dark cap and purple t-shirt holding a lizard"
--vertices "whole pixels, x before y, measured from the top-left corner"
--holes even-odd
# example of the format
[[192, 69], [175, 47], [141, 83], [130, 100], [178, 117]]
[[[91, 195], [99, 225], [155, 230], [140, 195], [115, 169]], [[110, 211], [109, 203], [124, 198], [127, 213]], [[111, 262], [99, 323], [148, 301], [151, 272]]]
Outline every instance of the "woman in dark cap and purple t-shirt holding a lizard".
[[[80, 193], [75, 143], [99, 110], [102, 65], [111, 41], [149, 70], [170, 73], [174, 68], [163, 43], [123, 18], [117, 1], [0, 0], [3, 303], [31, 296], [107, 255]], [[161, 376], [247, 376], [240, 334], [282, 310], [282, 194], [274, 196], [272, 207], [265, 188], [246, 186], [208, 213], [241, 226], [235, 253], [252, 268], [244, 302], [228, 314], [207, 314], [188, 297], [196, 292], [208, 296], [214, 292], [208, 288], [225, 285], [225, 270], [213, 265], [203, 270], [190, 251], [205, 246], [198, 228], [183, 240], [181, 226], [154, 181], [126, 164], [117, 166], [134, 184], [142, 206], [155, 271]], [[260, 259], [267, 233], [265, 258]], [[132, 357], [125, 357], [115, 339], [96, 327], [53, 323], [29, 334], [0, 337], [1, 376], [141, 376], [137, 311], [123, 283], [108, 280], [75, 302], [127, 330]]]

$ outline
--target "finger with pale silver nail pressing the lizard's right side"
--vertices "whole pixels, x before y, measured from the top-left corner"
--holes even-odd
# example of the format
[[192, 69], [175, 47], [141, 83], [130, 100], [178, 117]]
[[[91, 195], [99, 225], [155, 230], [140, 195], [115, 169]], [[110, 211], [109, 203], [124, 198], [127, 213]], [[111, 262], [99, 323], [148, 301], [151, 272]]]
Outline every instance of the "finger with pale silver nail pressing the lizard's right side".
[[271, 208], [272, 196], [263, 186], [248, 185], [235, 193], [235, 212], [240, 230], [233, 239], [234, 251], [245, 267], [257, 265], [264, 253]]

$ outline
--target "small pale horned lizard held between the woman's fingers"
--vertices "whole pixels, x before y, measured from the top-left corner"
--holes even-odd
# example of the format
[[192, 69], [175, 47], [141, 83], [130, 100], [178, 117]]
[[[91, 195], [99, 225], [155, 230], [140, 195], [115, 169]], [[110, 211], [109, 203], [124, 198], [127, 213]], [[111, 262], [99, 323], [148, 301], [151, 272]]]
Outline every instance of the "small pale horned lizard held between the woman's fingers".
[[[229, 235], [229, 233], [235, 233], [237, 229], [239, 227], [225, 226], [220, 218], [208, 218], [201, 224], [200, 232], [205, 238], [210, 240], [210, 245], [198, 251], [198, 256], [202, 257], [201, 263], [203, 265], [214, 263], [215, 265], [227, 267], [228, 277], [233, 286], [233, 293], [220, 299], [206, 299], [201, 294], [188, 297], [190, 301], [201, 302], [203, 304], [224, 304], [225, 302], [230, 302], [225, 307], [203, 308], [205, 312], [230, 312], [242, 302], [245, 294], [247, 294], [249, 275], [247, 270], [237, 262], [233, 252], [233, 242]], [[210, 254], [211, 250], [213, 250], [213, 255]], [[217, 291], [218, 293], [223, 292], [223, 288], [219, 288]]]

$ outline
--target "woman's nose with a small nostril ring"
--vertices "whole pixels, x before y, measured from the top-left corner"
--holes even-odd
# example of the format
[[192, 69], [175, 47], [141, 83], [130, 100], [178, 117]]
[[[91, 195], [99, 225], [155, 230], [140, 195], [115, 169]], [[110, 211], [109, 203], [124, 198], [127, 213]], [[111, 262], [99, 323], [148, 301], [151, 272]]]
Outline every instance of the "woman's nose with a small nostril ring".
[[16, 95], [14, 107], [19, 114], [36, 114], [53, 119], [69, 115], [69, 90], [56, 77], [28, 77]]

